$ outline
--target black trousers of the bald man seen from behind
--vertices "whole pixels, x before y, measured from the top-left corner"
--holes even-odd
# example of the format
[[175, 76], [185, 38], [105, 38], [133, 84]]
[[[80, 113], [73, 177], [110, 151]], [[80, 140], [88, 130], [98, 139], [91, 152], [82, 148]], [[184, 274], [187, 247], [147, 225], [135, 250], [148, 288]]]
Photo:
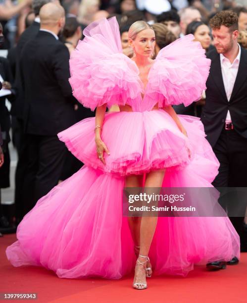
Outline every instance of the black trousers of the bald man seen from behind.
[[57, 136], [27, 135], [28, 162], [23, 185], [25, 212], [58, 183], [66, 148]]

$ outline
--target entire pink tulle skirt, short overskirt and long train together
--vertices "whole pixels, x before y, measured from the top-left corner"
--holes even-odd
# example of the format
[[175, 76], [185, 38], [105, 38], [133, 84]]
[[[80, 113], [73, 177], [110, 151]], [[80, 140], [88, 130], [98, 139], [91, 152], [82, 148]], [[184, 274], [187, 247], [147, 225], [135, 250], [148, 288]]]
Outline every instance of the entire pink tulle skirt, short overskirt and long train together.
[[[126, 175], [166, 168], [163, 187], [211, 187], [217, 174], [219, 163], [199, 119], [179, 118], [189, 139], [163, 110], [106, 114], [105, 166], [95, 150], [95, 118], [59, 133], [86, 165], [26, 214], [18, 241], [6, 250], [9, 261], [44, 266], [61, 278], [119, 279], [130, 273], [135, 254], [122, 215]], [[158, 217], [149, 252], [154, 274], [186, 276], [194, 264], [233, 256], [240, 257], [240, 241], [228, 217]]]

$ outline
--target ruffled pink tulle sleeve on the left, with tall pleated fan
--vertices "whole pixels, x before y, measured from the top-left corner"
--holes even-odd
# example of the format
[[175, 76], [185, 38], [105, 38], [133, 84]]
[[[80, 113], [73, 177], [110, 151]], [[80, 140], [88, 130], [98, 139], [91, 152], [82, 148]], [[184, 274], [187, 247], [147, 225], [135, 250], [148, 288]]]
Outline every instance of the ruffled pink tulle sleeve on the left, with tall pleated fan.
[[141, 91], [136, 64], [122, 53], [116, 18], [91, 23], [70, 57], [74, 97], [94, 110], [107, 103], [124, 105]]

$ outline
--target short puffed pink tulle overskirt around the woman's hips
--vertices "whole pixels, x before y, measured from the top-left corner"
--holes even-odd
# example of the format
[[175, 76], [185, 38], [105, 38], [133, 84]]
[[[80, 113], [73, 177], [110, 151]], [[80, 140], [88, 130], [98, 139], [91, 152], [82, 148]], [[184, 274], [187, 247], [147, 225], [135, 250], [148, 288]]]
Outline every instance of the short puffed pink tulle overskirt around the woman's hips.
[[195, 149], [199, 149], [206, 162], [208, 158], [213, 159], [211, 175], [215, 176], [218, 161], [204, 138], [202, 123], [198, 118], [182, 115], [180, 120], [189, 139], [164, 110], [106, 114], [101, 133], [110, 151], [110, 155], [104, 153], [106, 165], [99, 160], [95, 148], [95, 118], [78, 122], [58, 137], [87, 166], [113, 175], [141, 174], [170, 167], [181, 169], [190, 161], [188, 150], [195, 157]]

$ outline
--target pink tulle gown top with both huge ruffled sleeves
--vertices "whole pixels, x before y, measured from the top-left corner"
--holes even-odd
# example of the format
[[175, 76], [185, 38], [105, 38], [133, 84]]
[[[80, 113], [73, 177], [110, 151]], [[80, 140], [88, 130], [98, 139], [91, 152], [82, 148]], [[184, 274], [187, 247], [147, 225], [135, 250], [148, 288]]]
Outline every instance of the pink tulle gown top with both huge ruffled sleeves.
[[[205, 89], [210, 60], [194, 36], [160, 50], [144, 89], [136, 63], [122, 53], [116, 18], [93, 22], [71, 54], [69, 79], [74, 97], [94, 110], [107, 103], [129, 104], [134, 111], [197, 101]], [[142, 94], [144, 97], [142, 98]]]

